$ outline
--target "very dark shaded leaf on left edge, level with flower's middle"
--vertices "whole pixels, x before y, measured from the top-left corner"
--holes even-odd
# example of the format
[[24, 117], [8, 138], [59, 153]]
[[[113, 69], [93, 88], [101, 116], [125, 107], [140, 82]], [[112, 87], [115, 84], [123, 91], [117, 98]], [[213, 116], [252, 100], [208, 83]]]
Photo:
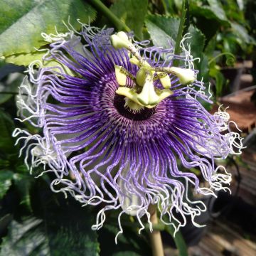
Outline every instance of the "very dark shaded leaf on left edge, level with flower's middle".
[[0, 110], [0, 131], [0, 151], [3, 151], [3, 153], [16, 152], [15, 140], [11, 137], [14, 131], [14, 122], [3, 110]]

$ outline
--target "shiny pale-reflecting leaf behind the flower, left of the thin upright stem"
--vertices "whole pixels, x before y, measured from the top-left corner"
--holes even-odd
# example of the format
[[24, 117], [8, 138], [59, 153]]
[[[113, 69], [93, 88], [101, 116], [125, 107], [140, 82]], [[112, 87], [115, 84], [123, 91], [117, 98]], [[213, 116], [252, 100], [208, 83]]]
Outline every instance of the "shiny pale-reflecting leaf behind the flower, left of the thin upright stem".
[[178, 18], [149, 15], [145, 23], [154, 46], [170, 48], [169, 42], [175, 46], [179, 26]]

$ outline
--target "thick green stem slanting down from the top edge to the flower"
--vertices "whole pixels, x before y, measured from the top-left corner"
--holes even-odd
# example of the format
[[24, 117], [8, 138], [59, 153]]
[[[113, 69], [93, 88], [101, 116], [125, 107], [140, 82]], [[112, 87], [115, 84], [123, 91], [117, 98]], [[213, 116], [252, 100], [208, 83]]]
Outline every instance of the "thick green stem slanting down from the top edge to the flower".
[[113, 23], [113, 25], [119, 30], [119, 31], [131, 31], [131, 29], [120, 19], [115, 16], [110, 9], [105, 6], [105, 4], [102, 3], [100, 0], [89, 0], [92, 6], [97, 9], [97, 11], [100, 11], [102, 14], [104, 14], [109, 20]]

